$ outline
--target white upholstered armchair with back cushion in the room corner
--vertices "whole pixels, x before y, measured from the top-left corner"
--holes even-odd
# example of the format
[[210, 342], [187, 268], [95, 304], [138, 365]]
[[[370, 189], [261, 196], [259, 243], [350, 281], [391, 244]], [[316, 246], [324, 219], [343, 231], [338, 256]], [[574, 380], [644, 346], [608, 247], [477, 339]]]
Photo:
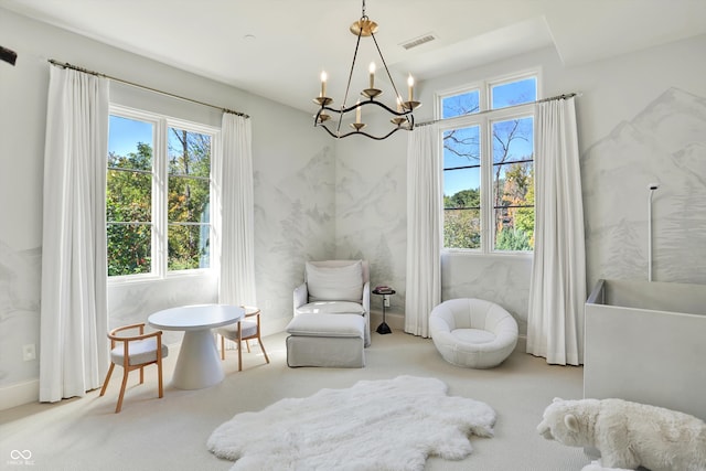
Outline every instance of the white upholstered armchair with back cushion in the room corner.
[[371, 282], [367, 260], [307, 261], [304, 282], [295, 289], [295, 317], [360, 314], [365, 319], [365, 346], [371, 344]]

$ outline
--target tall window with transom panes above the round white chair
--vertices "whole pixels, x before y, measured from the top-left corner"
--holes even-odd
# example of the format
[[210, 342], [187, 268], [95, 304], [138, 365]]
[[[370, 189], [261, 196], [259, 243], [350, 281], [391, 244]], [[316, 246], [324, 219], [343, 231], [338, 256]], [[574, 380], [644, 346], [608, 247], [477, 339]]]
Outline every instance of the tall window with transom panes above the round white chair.
[[525, 75], [439, 96], [445, 248], [533, 250], [536, 90]]

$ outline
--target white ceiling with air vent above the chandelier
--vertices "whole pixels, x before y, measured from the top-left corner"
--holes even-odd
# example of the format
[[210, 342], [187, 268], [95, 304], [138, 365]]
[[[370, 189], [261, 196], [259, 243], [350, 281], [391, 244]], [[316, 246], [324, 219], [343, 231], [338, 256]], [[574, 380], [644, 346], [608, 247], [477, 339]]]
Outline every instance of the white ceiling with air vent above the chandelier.
[[[349, 26], [362, 14], [361, 0], [0, 0], [0, 7], [307, 111], [315, 109], [322, 69], [328, 95], [345, 92], [356, 41]], [[573, 66], [706, 33], [705, 0], [368, 0], [366, 14], [379, 25], [375, 38], [398, 88], [409, 73], [425, 81], [546, 46]], [[436, 39], [402, 46], [429, 34]], [[363, 39], [353, 89], [367, 87], [373, 58], [382, 77], [374, 43]]]

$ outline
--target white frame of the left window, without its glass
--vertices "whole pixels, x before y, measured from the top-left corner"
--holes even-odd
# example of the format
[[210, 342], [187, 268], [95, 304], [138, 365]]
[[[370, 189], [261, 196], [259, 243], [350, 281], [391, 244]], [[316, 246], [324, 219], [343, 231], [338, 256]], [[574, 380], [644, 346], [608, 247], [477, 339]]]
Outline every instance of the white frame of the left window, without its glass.
[[[168, 195], [169, 195], [169, 129], [178, 128], [189, 132], [197, 132], [211, 136], [211, 169], [210, 169], [210, 202], [208, 205], [208, 237], [216, 240], [216, 211], [213, 204], [216, 201], [214, 184], [214, 156], [220, 151], [221, 129], [181, 118], [167, 116], [160, 113], [147, 111], [124, 105], [110, 104], [109, 116], [118, 116], [126, 119], [135, 119], [152, 125], [152, 235], [151, 235], [151, 271], [147, 274], [108, 276], [111, 285], [156, 281], [173, 278], [188, 278], [194, 276], [208, 276], [214, 269], [214, 246], [211, 245], [210, 265], [207, 268], [191, 268], [185, 270], [169, 270], [168, 236]], [[107, 159], [107, 156], [106, 156]], [[107, 160], [106, 160], [107, 162]], [[106, 172], [108, 167], [106, 164]], [[108, 226], [107, 212], [105, 214], [106, 227]], [[106, 254], [106, 257], [108, 255]]]

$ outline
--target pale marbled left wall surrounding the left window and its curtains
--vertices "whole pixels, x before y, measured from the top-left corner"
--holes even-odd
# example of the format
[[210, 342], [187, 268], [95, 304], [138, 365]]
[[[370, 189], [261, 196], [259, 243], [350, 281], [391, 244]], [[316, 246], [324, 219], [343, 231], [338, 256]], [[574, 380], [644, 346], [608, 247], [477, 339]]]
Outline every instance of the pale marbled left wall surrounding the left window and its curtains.
[[[282, 330], [303, 260], [334, 255], [334, 152], [311, 115], [3, 9], [0, 44], [18, 53], [14, 67], [0, 63], [0, 409], [36, 398], [39, 362], [24, 362], [22, 345], [40, 343], [47, 58], [250, 115], [257, 299], [264, 332]], [[220, 124], [217, 110], [127, 88], [113, 84], [113, 98]], [[170, 306], [212, 302], [216, 291], [214, 277], [111, 286], [110, 325], [145, 321]], [[170, 332], [167, 341], [180, 335]]]

